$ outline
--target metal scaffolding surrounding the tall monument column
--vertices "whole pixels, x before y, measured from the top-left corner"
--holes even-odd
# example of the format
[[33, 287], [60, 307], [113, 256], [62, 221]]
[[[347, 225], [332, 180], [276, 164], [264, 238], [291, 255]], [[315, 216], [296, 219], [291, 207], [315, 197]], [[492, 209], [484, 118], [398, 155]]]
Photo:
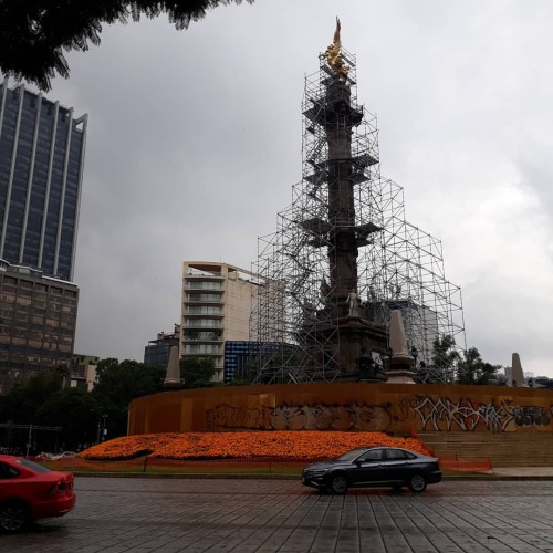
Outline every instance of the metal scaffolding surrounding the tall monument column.
[[[418, 353], [419, 379], [450, 382], [455, 368], [432, 368], [432, 343], [447, 335], [466, 348], [460, 289], [446, 280], [440, 241], [406, 221], [403, 188], [380, 176], [376, 117], [357, 103], [355, 56], [343, 48], [341, 55], [348, 64], [340, 93], [348, 95], [342, 107], [348, 111], [349, 128], [341, 128], [335, 116], [342, 108], [336, 106], [336, 74], [321, 54], [319, 72], [305, 77], [302, 180], [292, 188], [292, 204], [279, 213], [276, 231], [258, 241], [253, 271], [260, 286], [250, 340], [260, 348], [250, 362], [253, 380], [340, 379], [342, 307], [336, 303], [343, 303], [344, 291], [333, 289], [341, 260], [332, 252], [340, 250], [342, 232], [355, 240], [352, 282], [359, 317], [375, 332], [380, 328], [386, 343], [389, 311], [400, 309], [408, 345]], [[343, 157], [330, 144], [330, 128], [347, 145]], [[345, 200], [333, 194], [340, 171], [347, 171], [353, 185]], [[344, 220], [343, 206], [336, 205], [344, 201], [351, 202], [354, 220]], [[372, 352], [376, 363], [385, 349]]]

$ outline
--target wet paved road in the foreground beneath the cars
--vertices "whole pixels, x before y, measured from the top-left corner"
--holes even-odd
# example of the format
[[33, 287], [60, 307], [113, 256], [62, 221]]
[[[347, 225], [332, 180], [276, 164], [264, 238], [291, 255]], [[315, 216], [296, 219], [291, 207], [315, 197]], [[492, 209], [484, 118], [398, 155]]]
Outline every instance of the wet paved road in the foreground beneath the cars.
[[553, 552], [553, 481], [320, 495], [295, 480], [77, 478], [77, 507], [2, 552]]

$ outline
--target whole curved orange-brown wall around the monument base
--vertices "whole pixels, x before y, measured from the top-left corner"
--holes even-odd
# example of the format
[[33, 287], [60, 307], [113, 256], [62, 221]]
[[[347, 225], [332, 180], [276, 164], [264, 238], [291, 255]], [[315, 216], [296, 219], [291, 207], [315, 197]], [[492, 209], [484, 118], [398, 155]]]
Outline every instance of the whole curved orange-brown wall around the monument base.
[[259, 430], [552, 432], [553, 392], [413, 384], [292, 384], [135, 399], [128, 434]]

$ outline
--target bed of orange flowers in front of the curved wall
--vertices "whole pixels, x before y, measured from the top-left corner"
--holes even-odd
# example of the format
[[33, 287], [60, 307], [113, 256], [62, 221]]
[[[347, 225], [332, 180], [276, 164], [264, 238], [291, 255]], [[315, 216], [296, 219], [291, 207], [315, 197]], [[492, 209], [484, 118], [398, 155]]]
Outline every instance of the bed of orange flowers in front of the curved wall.
[[161, 459], [231, 459], [279, 457], [333, 458], [356, 447], [394, 446], [431, 455], [416, 438], [384, 432], [282, 430], [268, 432], [167, 432], [115, 438], [79, 453], [88, 460], [124, 460], [148, 455]]

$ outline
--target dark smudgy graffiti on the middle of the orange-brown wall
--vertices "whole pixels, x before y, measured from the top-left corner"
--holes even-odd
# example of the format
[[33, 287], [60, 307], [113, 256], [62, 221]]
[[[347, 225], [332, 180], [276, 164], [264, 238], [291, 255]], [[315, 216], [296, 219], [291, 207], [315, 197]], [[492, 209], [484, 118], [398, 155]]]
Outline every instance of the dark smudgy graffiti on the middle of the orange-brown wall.
[[355, 430], [386, 431], [393, 419], [392, 404], [282, 405], [232, 407], [218, 405], [206, 413], [206, 426], [215, 430]]

